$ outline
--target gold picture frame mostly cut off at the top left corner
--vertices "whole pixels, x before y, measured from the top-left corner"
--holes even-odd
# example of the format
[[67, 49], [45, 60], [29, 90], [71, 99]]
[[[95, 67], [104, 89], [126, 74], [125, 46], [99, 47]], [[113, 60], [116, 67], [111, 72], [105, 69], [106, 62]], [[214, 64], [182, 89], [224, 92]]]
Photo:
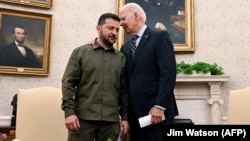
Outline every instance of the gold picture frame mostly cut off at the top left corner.
[[7, 2], [7, 3], [41, 7], [41, 8], [51, 8], [52, 7], [52, 0], [0, 0], [0, 2], [1, 1]]

